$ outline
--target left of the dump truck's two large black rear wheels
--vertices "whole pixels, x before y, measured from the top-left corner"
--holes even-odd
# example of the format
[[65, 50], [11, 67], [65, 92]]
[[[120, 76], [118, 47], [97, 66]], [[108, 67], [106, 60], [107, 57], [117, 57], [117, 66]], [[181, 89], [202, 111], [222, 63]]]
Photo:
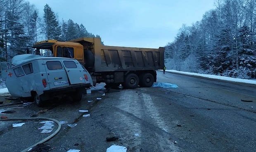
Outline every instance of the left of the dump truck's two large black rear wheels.
[[135, 89], [137, 88], [139, 81], [139, 77], [136, 74], [128, 74], [125, 77], [124, 83], [122, 83], [122, 85], [126, 89]]

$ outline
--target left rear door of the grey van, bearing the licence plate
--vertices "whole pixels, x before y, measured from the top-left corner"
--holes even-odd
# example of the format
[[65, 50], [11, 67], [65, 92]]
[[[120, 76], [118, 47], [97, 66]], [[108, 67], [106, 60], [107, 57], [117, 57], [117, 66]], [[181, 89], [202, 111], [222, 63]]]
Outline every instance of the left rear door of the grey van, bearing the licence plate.
[[69, 86], [66, 71], [59, 60], [43, 60], [50, 89]]

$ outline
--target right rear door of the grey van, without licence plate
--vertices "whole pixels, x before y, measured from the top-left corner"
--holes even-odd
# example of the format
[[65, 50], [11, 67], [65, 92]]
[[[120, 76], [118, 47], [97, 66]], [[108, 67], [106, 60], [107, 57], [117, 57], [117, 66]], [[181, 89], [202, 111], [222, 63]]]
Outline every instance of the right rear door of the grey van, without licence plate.
[[76, 60], [63, 60], [64, 68], [69, 77], [70, 84], [85, 83], [85, 71]]

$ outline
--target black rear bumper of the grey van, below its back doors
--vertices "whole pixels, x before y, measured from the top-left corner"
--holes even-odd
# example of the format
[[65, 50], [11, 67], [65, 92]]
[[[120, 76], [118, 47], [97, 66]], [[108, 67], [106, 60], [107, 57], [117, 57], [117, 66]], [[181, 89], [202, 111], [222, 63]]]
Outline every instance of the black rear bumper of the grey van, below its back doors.
[[48, 94], [48, 93], [64, 93], [64, 92], [74, 92], [74, 91], [81, 91], [82, 93], [86, 92], [86, 88], [90, 88], [91, 84], [86, 83], [86, 84], [77, 84], [77, 85], [71, 85], [71, 86], [66, 86], [66, 87], [61, 87], [61, 88], [54, 88], [50, 90], [44, 90], [43, 93]]

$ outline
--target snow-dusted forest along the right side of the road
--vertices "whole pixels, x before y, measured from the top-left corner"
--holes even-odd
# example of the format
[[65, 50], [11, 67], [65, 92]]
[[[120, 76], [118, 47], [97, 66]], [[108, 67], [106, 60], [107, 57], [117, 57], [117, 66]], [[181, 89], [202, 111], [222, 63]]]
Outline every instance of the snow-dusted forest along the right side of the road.
[[166, 46], [168, 69], [255, 78], [256, 0], [216, 0], [201, 21]]

